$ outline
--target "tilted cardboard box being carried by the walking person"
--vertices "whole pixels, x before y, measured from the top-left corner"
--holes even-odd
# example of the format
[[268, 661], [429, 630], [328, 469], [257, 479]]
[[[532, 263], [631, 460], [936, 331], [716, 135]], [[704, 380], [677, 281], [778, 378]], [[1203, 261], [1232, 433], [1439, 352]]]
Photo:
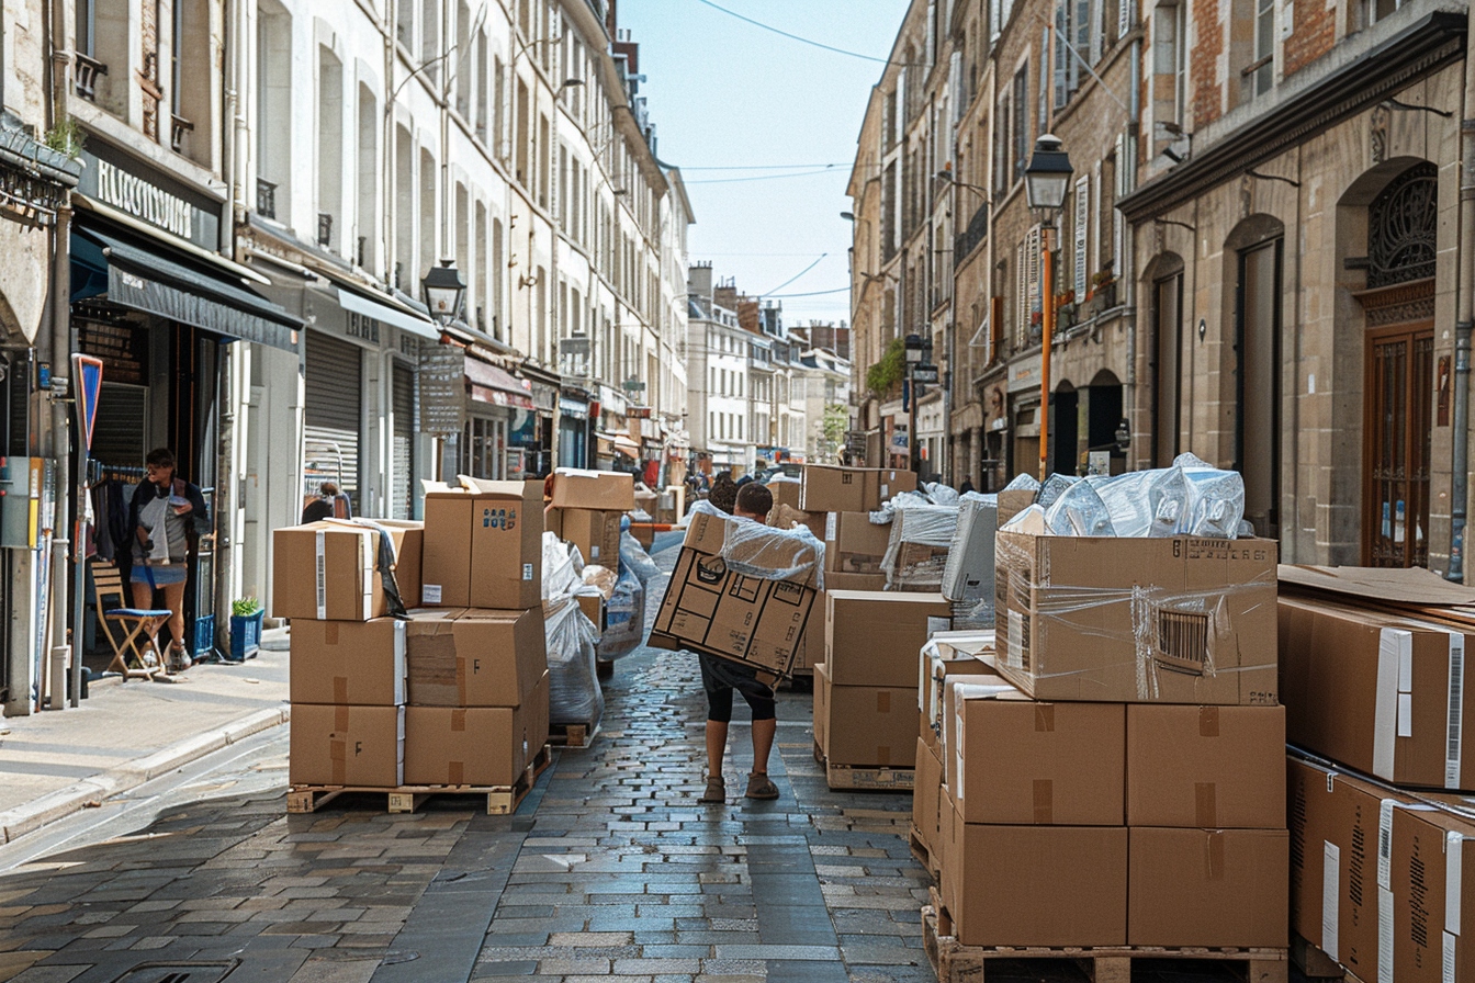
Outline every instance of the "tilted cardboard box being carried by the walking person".
[[739, 522], [692, 516], [648, 644], [789, 675], [814, 607], [819, 557], [799, 538], [773, 534], [761, 538], [749, 562], [766, 569], [810, 564], [808, 572], [792, 581], [770, 581], [730, 570], [721, 553], [729, 529]]

